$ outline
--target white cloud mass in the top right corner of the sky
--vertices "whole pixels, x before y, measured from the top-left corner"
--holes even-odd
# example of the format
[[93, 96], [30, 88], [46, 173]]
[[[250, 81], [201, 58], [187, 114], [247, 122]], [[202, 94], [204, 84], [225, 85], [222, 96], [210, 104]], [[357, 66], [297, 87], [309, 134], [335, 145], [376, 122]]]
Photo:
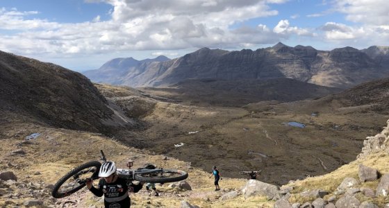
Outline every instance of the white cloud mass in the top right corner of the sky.
[[345, 14], [355, 24], [327, 22], [320, 27], [324, 40], [340, 46], [365, 48], [389, 42], [389, 3], [386, 0], [338, 0], [331, 2], [332, 12]]

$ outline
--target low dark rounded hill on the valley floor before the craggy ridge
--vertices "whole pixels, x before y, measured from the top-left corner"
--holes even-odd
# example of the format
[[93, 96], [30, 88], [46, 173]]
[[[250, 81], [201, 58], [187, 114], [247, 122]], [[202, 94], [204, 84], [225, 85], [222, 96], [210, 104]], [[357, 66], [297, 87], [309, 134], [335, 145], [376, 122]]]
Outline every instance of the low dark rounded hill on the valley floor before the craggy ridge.
[[240, 107], [259, 101], [290, 102], [320, 98], [341, 89], [304, 83], [290, 78], [268, 80], [185, 80], [170, 87], [140, 88], [149, 94], [175, 100], [190, 101], [195, 105]]

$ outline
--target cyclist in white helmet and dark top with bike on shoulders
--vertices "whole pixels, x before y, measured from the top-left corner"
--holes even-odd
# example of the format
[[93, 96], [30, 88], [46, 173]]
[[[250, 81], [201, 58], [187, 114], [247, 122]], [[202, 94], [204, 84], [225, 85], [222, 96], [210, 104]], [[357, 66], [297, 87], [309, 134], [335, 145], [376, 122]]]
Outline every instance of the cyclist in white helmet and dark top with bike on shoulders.
[[95, 196], [104, 195], [104, 205], [106, 208], [129, 208], [131, 199], [129, 192], [137, 193], [143, 187], [143, 183], [127, 184], [127, 181], [118, 177], [115, 162], [105, 162], [99, 170], [99, 185], [93, 186], [93, 181], [88, 180], [86, 186]]

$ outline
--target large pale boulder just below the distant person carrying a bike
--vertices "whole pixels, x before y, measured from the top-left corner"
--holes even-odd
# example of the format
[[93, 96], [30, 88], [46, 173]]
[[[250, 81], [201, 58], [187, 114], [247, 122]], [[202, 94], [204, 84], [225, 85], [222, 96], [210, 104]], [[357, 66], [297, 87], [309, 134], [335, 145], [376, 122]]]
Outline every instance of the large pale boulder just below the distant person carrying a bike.
[[249, 180], [246, 186], [242, 189], [242, 193], [245, 195], [245, 198], [260, 195], [266, 196], [270, 199], [279, 199], [279, 191], [279, 187], [260, 182], [259, 180]]

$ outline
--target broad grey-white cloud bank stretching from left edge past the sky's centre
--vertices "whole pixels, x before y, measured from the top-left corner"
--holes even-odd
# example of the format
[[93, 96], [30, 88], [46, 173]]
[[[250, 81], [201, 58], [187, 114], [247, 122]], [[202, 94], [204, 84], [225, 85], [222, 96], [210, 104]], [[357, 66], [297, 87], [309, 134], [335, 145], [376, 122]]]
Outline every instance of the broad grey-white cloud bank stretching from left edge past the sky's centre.
[[[277, 15], [267, 3], [285, 0], [84, 0], [113, 6], [112, 19], [61, 24], [35, 19], [38, 11], [21, 12], [0, 9], [0, 29], [13, 35], [1, 35], [0, 50], [12, 49], [21, 55], [30, 53], [107, 53], [188, 47], [236, 46], [277, 42], [279, 36], [266, 26], [234, 28], [233, 24], [258, 17]], [[285, 37], [281, 34], [282, 37]], [[18, 44], [8, 44], [15, 40]], [[36, 46], [38, 43], [40, 46]], [[35, 50], [37, 47], [40, 50]]]

